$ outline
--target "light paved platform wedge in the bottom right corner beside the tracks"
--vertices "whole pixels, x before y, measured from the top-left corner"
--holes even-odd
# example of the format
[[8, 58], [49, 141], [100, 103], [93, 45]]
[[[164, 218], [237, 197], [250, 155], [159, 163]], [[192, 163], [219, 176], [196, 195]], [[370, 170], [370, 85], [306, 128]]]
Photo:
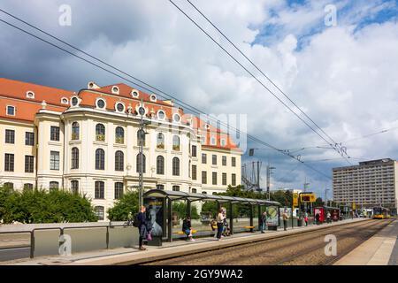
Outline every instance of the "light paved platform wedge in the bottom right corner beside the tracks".
[[394, 222], [368, 241], [364, 241], [334, 265], [397, 265], [397, 236], [398, 220], [395, 219]]

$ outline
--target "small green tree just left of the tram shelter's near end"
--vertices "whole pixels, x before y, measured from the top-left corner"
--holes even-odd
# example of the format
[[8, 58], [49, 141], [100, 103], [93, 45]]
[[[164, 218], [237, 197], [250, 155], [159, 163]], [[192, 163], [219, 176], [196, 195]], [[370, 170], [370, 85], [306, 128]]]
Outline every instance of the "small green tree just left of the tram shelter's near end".
[[138, 191], [127, 192], [108, 210], [108, 218], [111, 221], [126, 221], [129, 213], [134, 215], [138, 211], [138, 197]]

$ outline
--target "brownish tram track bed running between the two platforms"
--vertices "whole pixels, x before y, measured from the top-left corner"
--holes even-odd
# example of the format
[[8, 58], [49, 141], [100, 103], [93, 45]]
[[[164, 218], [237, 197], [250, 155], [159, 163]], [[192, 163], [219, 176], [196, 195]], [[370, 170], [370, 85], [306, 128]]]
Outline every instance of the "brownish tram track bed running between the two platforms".
[[[368, 220], [344, 226], [330, 226], [147, 264], [333, 264], [390, 222]], [[331, 233], [338, 241], [338, 256], [325, 256], [325, 235]], [[305, 258], [309, 260], [303, 260]]]

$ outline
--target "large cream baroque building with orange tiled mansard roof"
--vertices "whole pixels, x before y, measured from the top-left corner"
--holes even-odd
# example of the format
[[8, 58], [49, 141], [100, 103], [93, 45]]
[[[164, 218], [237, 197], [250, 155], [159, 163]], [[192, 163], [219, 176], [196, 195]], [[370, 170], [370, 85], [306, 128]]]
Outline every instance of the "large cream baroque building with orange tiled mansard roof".
[[241, 183], [229, 134], [125, 84], [75, 93], [0, 79], [0, 139], [0, 185], [85, 194], [100, 219], [138, 187], [141, 162], [145, 189], [212, 194]]

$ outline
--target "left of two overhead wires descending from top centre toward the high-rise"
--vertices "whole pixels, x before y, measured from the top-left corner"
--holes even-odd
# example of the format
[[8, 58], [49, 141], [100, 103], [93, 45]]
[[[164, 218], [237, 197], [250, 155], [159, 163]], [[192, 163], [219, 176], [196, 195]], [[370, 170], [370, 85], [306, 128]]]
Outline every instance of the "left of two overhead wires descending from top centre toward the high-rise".
[[[211, 40], [212, 42], [215, 42], [221, 50], [223, 50], [224, 52], [226, 52], [226, 54], [227, 54], [229, 57], [231, 57], [235, 63], [237, 63], [238, 65], [240, 65], [241, 68], [242, 68], [243, 70], [246, 71], [246, 73], [249, 73], [249, 75], [250, 75], [253, 79], [255, 79], [263, 88], [265, 88], [269, 93], [271, 93], [272, 96], [274, 96], [274, 97], [279, 101], [279, 103], [282, 103], [282, 104], [287, 108], [287, 110], [291, 111], [298, 119], [300, 119], [306, 126], [308, 126], [312, 132], [314, 132], [315, 134], [318, 134], [318, 136], [319, 136], [322, 140], [324, 140], [325, 142], [327, 142], [334, 150], [336, 150], [336, 151], [339, 153], [339, 155], [341, 155], [342, 157], [344, 156], [344, 152], [341, 152], [341, 149], [337, 149], [337, 148], [336, 148], [336, 145], [333, 145], [331, 142], [327, 141], [323, 135], [319, 134], [318, 131], [316, 131], [312, 126], [310, 126], [310, 124], [308, 124], [304, 119], [302, 119], [302, 118], [300, 117], [300, 115], [298, 115], [295, 111], [293, 111], [293, 110], [287, 105], [287, 103], [283, 102], [283, 101], [279, 98], [279, 96], [276, 96], [276, 95], [272, 92], [272, 90], [271, 90], [270, 88], [268, 88], [267, 86], [265, 86], [264, 83], [263, 83], [261, 80], [259, 80], [253, 73], [251, 73], [251, 72], [249, 71], [248, 68], [246, 68], [244, 65], [242, 65], [241, 62], [239, 62], [235, 57], [233, 57], [233, 55], [232, 55], [228, 50], [226, 50], [221, 44], [219, 44], [208, 32], [206, 32], [206, 31], [203, 29], [203, 27], [201, 27], [198, 23], [196, 23], [194, 19], [192, 19], [185, 11], [183, 11], [183, 10], [180, 8], [179, 5], [175, 4], [172, 0], [169, 0], [169, 2], [172, 3], [182, 14], [184, 14], [196, 27], [198, 27], [198, 28], [203, 32], [203, 34], [206, 34], [206, 35], [210, 38], [210, 40]], [[348, 162], [348, 164], [351, 164], [351, 163], [348, 161], [348, 158], [345, 158], [345, 159], [346, 159], [346, 161]]]

